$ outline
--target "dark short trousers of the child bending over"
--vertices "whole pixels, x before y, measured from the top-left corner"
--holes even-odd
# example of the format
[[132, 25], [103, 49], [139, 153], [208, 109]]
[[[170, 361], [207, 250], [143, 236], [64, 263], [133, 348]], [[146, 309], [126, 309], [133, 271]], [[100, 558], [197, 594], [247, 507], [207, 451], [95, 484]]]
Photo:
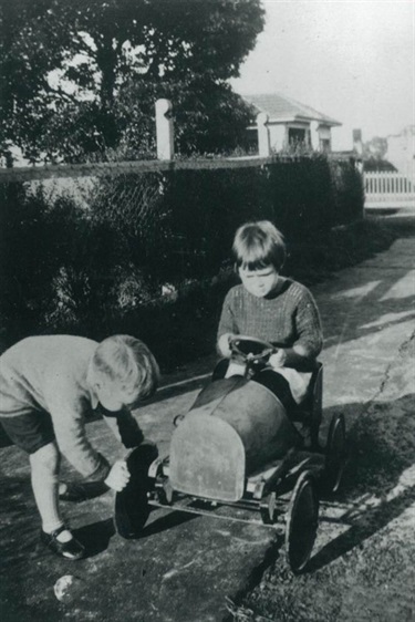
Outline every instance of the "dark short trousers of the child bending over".
[[45, 411], [32, 411], [15, 417], [0, 415], [0, 424], [10, 440], [28, 454], [34, 454], [55, 439], [51, 416]]

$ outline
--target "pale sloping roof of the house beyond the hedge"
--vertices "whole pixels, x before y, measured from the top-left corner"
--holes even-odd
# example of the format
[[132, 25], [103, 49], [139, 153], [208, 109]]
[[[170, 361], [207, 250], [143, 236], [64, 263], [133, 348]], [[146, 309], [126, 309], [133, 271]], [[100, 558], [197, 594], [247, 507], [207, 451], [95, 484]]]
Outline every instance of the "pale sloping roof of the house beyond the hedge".
[[268, 95], [243, 95], [243, 100], [260, 112], [269, 115], [270, 123], [274, 122], [290, 122], [290, 121], [318, 121], [323, 125], [335, 126], [342, 125], [335, 118], [328, 116], [321, 112], [301, 104], [291, 97], [272, 93]]

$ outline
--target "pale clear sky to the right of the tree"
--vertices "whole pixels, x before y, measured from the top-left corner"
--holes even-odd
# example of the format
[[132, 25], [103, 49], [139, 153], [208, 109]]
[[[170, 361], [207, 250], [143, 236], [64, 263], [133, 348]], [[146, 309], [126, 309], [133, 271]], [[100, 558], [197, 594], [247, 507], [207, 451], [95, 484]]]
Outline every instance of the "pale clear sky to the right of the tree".
[[415, 0], [262, 0], [266, 25], [231, 80], [340, 121], [333, 149], [415, 124]]

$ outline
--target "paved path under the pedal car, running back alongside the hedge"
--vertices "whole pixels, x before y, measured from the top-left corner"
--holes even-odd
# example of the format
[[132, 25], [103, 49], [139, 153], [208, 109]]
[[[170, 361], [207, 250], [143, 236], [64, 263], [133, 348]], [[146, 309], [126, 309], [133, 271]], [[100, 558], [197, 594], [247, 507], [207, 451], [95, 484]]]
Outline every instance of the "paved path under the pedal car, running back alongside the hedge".
[[[414, 239], [401, 238], [390, 250], [312, 288], [326, 340], [321, 356], [325, 422], [341, 411], [351, 428], [373, 401], [383, 398], [394, 360], [414, 333]], [[162, 454], [168, 453], [173, 418], [190, 407], [211, 365], [212, 360], [199, 361], [191, 371], [165, 379], [155, 401], [139, 411], [143, 431]], [[396, 397], [411, 382], [409, 372], [395, 379]], [[115, 457], [103, 422], [92, 423], [89, 433]], [[264, 528], [162, 511], [152, 515], [144, 538], [122, 540], [114, 536], [113, 499], [106, 494], [65, 506], [89, 542], [90, 557], [76, 564], [55, 559], [35, 545], [25, 458], [14, 447], [0, 449], [0, 613], [8, 622], [216, 622], [227, 616], [226, 599], [237, 600], [280, 554], [280, 542]], [[68, 573], [79, 577], [80, 591], [72, 604], [62, 604], [53, 584]]]

